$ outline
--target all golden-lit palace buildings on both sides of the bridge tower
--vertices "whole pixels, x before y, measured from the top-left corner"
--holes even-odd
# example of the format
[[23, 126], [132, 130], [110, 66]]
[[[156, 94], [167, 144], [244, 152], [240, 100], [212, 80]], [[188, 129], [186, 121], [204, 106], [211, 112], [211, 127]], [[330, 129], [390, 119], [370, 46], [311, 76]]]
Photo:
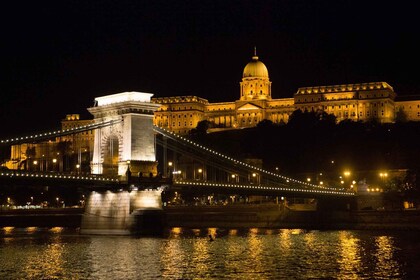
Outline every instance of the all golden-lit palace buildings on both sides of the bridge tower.
[[[420, 121], [420, 96], [399, 97], [386, 82], [302, 87], [293, 98], [273, 99], [267, 67], [255, 52], [243, 70], [236, 101], [210, 103], [198, 96], [159, 97], [151, 101], [161, 105], [154, 112], [154, 124], [178, 134], [188, 134], [204, 120], [211, 123], [209, 132], [255, 127], [262, 120], [283, 124], [298, 109], [333, 114], [338, 122], [375, 119], [392, 123], [397, 117]], [[79, 114], [71, 114], [61, 121], [61, 126], [71, 130], [91, 123], [93, 120], [81, 120]], [[13, 145], [6, 167], [63, 171], [77, 166], [78, 171], [87, 170], [94, 137], [94, 131], [85, 131], [77, 137], [62, 136], [55, 142]], [[59, 142], [67, 145], [59, 146]], [[78, 164], [66, 167], [63, 160], [57, 160], [67, 154], [77, 155]], [[27, 158], [33, 159], [33, 166], [27, 165]]]

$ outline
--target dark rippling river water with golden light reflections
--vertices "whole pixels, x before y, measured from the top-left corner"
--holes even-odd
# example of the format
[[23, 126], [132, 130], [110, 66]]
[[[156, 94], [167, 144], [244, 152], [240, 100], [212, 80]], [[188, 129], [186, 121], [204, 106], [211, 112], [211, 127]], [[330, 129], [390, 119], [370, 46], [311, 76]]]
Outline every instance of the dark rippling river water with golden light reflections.
[[0, 228], [0, 279], [420, 279], [419, 250], [408, 231]]

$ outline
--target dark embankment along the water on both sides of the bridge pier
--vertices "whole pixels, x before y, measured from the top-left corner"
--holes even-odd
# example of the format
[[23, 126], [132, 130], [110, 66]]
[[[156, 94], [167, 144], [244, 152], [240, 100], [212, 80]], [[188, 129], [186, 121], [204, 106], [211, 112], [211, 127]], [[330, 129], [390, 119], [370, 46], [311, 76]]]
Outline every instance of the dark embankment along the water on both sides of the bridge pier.
[[[80, 228], [83, 208], [8, 210], [0, 227]], [[420, 230], [419, 210], [296, 211], [282, 205], [171, 206], [166, 227]]]

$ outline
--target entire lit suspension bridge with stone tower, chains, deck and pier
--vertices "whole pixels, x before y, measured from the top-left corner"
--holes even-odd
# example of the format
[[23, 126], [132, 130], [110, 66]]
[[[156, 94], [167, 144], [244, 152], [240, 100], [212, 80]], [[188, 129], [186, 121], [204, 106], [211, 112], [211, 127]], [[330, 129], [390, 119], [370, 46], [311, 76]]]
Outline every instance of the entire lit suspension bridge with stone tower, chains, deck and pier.
[[[126, 231], [133, 212], [161, 209], [166, 203], [163, 196], [168, 193], [196, 198], [223, 194], [277, 199], [355, 195], [340, 187], [311, 184], [265, 170], [246, 159], [220, 153], [154, 126], [154, 111], [159, 105], [151, 102], [151, 96], [125, 92], [97, 97], [95, 106], [88, 108], [94, 117], [90, 124], [0, 140], [3, 153], [13, 151], [9, 160], [13, 168], [2, 168], [0, 184], [87, 190], [82, 225], [87, 233]], [[34, 154], [31, 158], [28, 152], [42, 144], [54, 150], [62, 139], [79, 139], [86, 134], [94, 134], [92, 149], [86, 152], [73, 147], [78, 154], [75, 168], [71, 164], [63, 168], [64, 153], [57, 152], [58, 161], [48, 156], [51, 150], [38, 158]], [[73, 146], [77, 144], [73, 142]]]

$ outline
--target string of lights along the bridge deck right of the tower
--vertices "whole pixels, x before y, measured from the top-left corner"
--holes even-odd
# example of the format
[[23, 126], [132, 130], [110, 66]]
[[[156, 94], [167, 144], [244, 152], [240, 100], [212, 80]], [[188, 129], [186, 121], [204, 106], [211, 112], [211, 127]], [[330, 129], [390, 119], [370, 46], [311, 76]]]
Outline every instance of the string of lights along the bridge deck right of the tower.
[[253, 186], [253, 185], [238, 185], [238, 184], [223, 184], [211, 182], [194, 182], [194, 181], [174, 181], [175, 185], [190, 185], [202, 187], [225, 187], [225, 188], [241, 188], [241, 189], [254, 189], [254, 190], [271, 190], [271, 191], [294, 191], [302, 193], [320, 193], [331, 195], [345, 195], [352, 196], [353, 192], [337, 191], [337, 190], [311, 190], [311, 189], [296, 189], [296, 188], [282, 188], [282, 187], [269, 187], [269, 186]]

